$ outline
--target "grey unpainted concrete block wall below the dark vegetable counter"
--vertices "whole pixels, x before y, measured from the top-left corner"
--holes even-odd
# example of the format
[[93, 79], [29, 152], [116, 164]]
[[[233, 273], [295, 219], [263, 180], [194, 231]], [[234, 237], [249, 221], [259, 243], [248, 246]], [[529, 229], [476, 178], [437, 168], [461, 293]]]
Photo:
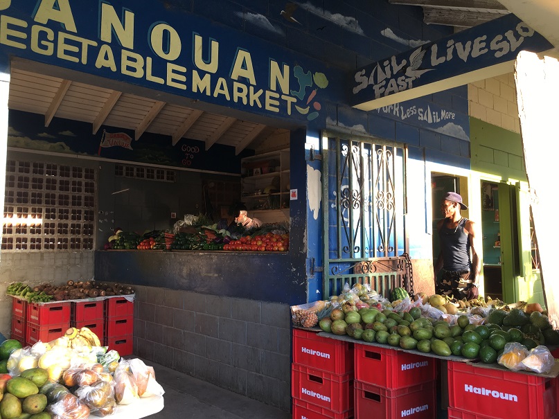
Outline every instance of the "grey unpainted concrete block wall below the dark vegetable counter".
[[290, 411], [288, 305], [133, 287], [135, 355]]

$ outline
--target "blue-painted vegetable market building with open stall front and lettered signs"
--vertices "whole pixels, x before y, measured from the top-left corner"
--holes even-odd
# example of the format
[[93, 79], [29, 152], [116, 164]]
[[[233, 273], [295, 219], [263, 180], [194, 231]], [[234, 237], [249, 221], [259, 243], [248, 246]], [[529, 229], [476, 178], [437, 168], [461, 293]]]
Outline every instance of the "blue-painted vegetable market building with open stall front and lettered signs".
[[[447, 190], [481, 224], [483, 292], [544, 305], [511, 63], [553, 45], [391, 3], [0, 1], [0, 290], [131, 285], [136, 355], [287, 411], [290, 305], [357, 278], [432, 292]], [[104, 249], [236, 201], [289, 249]]]

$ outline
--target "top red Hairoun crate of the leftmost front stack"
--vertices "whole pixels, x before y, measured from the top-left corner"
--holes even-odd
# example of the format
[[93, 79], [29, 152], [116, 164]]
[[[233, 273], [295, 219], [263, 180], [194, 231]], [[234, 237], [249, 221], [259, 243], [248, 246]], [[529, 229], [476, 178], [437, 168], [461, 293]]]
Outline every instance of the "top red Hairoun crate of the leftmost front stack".
[[352, 373], [353, 344], [293, 329], [293, 362], [332, 374]]

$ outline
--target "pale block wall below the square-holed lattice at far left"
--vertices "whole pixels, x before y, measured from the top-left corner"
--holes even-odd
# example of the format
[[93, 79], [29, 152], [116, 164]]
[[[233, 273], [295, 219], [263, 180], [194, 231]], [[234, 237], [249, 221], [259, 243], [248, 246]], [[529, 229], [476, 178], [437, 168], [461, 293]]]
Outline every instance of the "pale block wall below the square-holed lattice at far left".
[[2, 252], [0, 254], [0, 332], [8, 337], [12, 327], [12, 298], [6, 295], [15, 282], [30, 286], [67, 280], [88, 280], [94, 276], [94, 251]]

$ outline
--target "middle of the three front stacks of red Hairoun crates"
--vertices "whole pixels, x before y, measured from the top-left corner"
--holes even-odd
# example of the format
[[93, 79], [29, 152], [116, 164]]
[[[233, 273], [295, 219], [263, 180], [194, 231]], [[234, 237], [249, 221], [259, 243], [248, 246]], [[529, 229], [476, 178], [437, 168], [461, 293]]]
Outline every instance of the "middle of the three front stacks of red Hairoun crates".
[[438, 359], [355, 344], [355, 419], [435, 419]]

